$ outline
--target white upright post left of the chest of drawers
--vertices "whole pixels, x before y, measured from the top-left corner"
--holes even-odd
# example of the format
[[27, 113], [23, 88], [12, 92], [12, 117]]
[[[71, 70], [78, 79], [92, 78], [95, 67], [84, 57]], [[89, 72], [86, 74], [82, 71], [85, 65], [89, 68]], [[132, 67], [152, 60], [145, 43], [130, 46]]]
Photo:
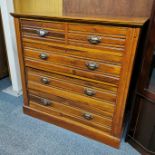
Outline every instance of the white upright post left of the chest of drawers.
[[10, 75], [12, 80], [12, 89], [15, 91], [15, 93], [19, 94], [22, 90], [20, 68], [17, 54], [14, 21], [13, 17], [10, 16], [10, 12], [14, 11], [13, 0], [0, 0], [0, 7], [2, 12]]

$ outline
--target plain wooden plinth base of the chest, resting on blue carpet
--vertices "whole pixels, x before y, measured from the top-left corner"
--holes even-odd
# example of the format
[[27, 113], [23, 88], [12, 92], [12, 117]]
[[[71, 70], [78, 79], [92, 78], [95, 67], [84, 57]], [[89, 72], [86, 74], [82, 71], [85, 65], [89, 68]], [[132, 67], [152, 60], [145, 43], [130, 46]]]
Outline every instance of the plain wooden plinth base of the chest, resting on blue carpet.
[[93, 138], [93, 139], [103, 142], [105, 144], [115, 146], [115, 147], [118, 147], [120, 144], [119, 138], [113, 137], [109, 134], [106, 134], [105, 132], [102, 132], [95, 128], [86, 126], [82, 123], [78, 123], [76, 121], [71, 121], [69, 119], [65, 119], [62, 117], [51, 116], [47, 113], [41, 112], [40, 110], [31, 108], [31, 107], [24, 106], [24, 112], [30, 116], [42, 119], [49, 123], [54, 123], [58, 126], [61, 126], [68, 130], [74, 131], [81, 135], [87, 136], [89, 138]]

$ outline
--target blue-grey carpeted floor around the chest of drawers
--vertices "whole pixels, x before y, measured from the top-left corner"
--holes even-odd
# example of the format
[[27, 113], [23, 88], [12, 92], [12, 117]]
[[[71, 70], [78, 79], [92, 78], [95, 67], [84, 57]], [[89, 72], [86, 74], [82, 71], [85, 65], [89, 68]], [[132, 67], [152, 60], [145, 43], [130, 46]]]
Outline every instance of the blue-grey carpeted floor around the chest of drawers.
[[117, 150], [24, 115], [22, 96], [1, 92], [10, 84], [0, 81], [0, 155], [140, 155], [123, 140]]

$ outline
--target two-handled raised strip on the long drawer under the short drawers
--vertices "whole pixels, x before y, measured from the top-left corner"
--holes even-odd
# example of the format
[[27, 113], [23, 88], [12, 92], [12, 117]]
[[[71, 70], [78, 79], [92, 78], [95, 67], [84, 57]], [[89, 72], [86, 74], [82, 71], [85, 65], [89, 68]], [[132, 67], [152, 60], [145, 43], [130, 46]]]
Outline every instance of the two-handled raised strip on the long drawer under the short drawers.
[[62, 55], [57, 52], [43, 50], [25, 49], [24, 51], [26, 59], [41, 60], [46, 63], [54, 63], [84, 71], [93, 71], [94, 73], [112, 76], [119, 76], [121, 71], [119, 65], [102, 63], [100, 61], [93, 61], [92, 59], [80, 59], [73, 56]]

